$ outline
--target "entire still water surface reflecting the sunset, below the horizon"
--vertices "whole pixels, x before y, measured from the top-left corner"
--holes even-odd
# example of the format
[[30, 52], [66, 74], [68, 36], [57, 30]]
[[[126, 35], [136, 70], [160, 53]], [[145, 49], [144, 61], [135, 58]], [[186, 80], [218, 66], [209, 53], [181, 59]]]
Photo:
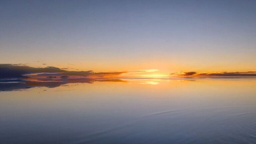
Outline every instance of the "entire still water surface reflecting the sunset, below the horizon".
[[256, 80], [0, 84], [1, 144], [255, 144]]

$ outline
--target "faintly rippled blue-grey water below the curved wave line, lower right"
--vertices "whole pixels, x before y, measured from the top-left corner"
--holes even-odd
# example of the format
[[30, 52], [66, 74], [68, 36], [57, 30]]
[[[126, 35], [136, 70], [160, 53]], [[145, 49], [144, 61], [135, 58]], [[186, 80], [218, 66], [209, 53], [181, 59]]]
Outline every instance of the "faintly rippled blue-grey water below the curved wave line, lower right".
[[256, 106], [167, 110], [81, 136], [77, 143], [254, 143], [255, 110]]

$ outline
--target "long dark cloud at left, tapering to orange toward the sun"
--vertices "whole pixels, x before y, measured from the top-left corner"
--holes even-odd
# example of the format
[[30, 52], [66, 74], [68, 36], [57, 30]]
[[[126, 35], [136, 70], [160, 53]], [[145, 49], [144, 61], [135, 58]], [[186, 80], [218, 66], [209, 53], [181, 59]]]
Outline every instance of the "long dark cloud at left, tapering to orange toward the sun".
[[57, 67], [45, 67], [45, 68], [34, 68], [29, 66], [22, 65], [13, 65], [13, 64], [0, 64], [0, 78], [9, 78], [9, 77], [24, 77], [24, 75], [68, 75], [68, 76], [109, 76], [109, 75], [119, 75], [125, 72], [93, 72], [93, 71], [67, 71]]

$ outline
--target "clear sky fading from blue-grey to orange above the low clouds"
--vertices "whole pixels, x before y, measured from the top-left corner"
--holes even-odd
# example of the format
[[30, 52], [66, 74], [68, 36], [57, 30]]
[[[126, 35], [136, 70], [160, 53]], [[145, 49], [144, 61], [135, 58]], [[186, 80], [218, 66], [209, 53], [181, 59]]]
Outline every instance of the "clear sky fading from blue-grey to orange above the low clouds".
[[0, 63], [125, 76], [255, 71], [256, 1], [0, 0]]

